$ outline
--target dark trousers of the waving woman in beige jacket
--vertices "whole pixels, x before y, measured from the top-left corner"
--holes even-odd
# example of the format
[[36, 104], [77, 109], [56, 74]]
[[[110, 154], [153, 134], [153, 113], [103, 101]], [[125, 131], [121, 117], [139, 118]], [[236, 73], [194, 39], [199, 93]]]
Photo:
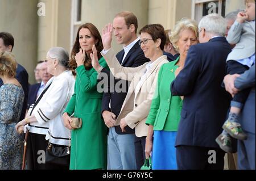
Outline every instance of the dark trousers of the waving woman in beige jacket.
[[135, 157], [137, 169], [141, 170], [141, 167], [144, 165], [145, 161], [145, 145], [146, 145], [146, 136], [137, 137], [135, 136]]

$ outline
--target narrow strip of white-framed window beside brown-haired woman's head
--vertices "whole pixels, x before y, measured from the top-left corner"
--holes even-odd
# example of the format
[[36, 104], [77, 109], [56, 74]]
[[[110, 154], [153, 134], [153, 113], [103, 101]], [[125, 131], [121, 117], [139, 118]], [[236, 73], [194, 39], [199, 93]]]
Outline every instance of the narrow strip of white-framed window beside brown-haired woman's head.
[[71, 12], [71, 49], [75, 43], [76, 33], [78, 28], [81, 26], [82, 17], [82, 0], [72, 0], [72, 12]]

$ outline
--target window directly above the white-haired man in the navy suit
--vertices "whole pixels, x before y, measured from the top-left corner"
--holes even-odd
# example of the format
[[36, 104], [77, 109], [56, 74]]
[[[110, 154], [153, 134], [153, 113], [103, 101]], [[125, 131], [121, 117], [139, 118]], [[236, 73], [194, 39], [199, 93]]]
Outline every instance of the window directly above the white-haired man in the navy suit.
[[192, 1], [192, 19], [199, 22], [203, 16], [217, 13], [225, 16], [225, 0], [193, 0]]

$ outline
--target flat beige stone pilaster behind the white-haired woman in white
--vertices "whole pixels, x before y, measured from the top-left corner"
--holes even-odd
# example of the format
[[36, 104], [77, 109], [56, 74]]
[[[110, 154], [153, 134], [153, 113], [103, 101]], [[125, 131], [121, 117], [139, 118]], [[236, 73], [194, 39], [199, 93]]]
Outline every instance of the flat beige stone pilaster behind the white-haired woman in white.
[[52, 47], [63, 47], [69, 52], [71, 36], [71, 0], [40, 0], [46, 7], [39, 16], [38, 59], [46, 57]]

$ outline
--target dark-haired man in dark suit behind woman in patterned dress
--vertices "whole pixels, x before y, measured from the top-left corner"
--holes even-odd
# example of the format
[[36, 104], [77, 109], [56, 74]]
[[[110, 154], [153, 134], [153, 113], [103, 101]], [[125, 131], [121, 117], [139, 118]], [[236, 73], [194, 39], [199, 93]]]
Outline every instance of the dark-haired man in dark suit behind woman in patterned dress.
[[[7, 51], [12, 52], [14, 47], [14, 37], [8, 32], [0, 32], [0, 52]], [[16, 79], [22, 85], [24, 91], [24, 101], [22, 106], [22, 112], [20, 114], [19, 121], [23, 120], [26, 115], [27, 109], [27, 96], [28, 96], [28, 73], [22, 65], [18, 64], [16, 69]], [[2, 79], [0, 79], [0, 87], [3, 85]]]

